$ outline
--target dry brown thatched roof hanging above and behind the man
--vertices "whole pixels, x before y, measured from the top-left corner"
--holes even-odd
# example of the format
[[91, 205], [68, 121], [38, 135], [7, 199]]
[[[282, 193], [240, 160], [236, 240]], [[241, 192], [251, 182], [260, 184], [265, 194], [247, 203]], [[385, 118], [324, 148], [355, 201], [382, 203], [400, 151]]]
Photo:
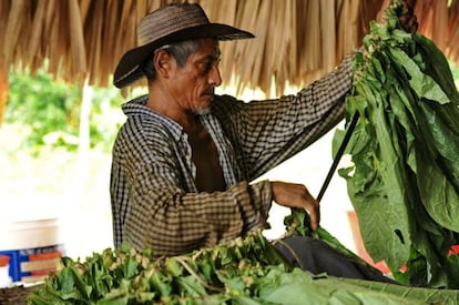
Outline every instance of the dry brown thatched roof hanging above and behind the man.
[[[200, 0], [210, 19], [254, 32], [223, 42], [223, 80], [278, 93], [318, 78], [360, 44], [388, 0]], [[49, 70], [69, 82], [111, 85], [121, 55], [135, 45], [135, 28], [164, 0], [1, 0], [0, 118], [8, 69]], [[448, 7], [447, 3], [450, 2]], [[459, 1], [417, 0], [421, 33], [459, 62]], [[143, 84], [143, 83], [142, 83]]]

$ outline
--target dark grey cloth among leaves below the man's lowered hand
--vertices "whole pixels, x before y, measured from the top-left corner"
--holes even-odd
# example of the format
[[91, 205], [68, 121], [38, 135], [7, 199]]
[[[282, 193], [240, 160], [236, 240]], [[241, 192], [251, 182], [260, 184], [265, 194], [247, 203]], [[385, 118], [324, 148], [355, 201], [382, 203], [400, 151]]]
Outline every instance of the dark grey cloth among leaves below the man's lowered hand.
[[293, 266], [313, 274], [326, 273], [337, 277], [399, 284], [378, 270], [343, 256], [335, 248], [319, 240], [290, 236], [275, 241], [273, 244]]

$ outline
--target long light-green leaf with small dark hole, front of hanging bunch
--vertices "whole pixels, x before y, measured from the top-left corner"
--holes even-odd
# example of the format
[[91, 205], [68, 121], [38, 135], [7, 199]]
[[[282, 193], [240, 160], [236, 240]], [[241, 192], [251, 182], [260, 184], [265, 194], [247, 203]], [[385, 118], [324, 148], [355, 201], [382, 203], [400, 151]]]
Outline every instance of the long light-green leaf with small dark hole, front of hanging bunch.
[[[373, 141], [377, 141], [377, 150], [363, 155], [368, 160], [358, 160], [366, 166], [356, 166], [353, 176], [371, 177], [365, 181], [366, 189], [357, 194], [355, 192], [358, 190], [353, 184], [348, 190], [349, 194], [354, 193], [350, 196], [357, 214], [365, 215], [359, 217], [359, 223], [368, 253], [376, 262], [385, 260], [388, 265], [399, 268], [409, 257], [411, 246], [407, 185], [405, 175], [400, 174], [405, 171], [401, 164], [404, 160], [397, 153], [398, 143], [394, 141], [396, 133], [391, 132], [394, 116], [386, 111], [386, 98], [376, 92], [373, 85], [361, 83], [360, 87], [373, 103], [369, 120], [376, 122], [371, 128], [375, 130], [376, 138]], [[360, 170], [363, 173], [359, 173]]]

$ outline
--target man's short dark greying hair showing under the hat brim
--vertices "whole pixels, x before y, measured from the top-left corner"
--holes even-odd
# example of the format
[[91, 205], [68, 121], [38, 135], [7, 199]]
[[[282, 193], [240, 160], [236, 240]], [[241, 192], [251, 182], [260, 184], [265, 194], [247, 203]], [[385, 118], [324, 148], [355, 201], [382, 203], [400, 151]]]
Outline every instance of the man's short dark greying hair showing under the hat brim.
[[[200, 42], [197, 40], [184, 40], [177, 43], [161, 47], [160, 49], [163, 49], [167, 53], [170, 53], [175, 59], [178, 67], [183, 68], [185, 67], [186, 59], [188, 58], [188, 55], [196, 52]], [[142, 62], [141, 71], [149, 80], [149, 83], [156, 79], [156, 70], [153, 65], [153, 57], [150, 57], [147, 60]]]

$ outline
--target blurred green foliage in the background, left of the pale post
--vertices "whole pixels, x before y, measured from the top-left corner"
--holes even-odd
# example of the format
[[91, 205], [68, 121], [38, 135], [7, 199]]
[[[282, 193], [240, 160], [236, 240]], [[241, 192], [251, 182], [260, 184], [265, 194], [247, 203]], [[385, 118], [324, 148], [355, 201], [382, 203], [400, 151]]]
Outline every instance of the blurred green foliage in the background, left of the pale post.
[[4, 122], [23, 124], [29, 129], [22, 146], [32, 149], [33, 152], [45, 145], [47, 136], [55, 138], [54, 145], [75, 149], [80, 98], [76, 87], [53, 82], [51, 75], [43, 70], [34, 75], [29, 71], [10, 73]]

